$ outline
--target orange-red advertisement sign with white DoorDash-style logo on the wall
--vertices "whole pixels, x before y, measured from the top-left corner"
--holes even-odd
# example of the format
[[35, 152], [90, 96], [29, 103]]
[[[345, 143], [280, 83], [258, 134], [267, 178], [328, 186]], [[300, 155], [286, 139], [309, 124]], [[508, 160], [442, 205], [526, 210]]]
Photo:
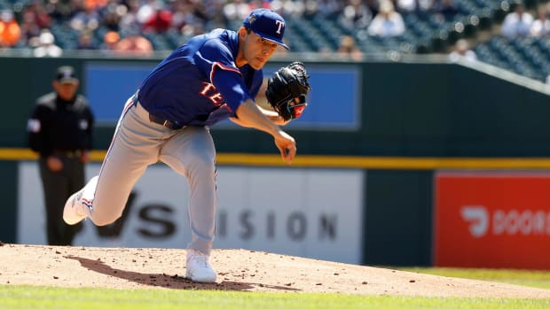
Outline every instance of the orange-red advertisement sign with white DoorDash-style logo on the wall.
[[438, 173], [437, 267], [550, 269], [550, 173]]

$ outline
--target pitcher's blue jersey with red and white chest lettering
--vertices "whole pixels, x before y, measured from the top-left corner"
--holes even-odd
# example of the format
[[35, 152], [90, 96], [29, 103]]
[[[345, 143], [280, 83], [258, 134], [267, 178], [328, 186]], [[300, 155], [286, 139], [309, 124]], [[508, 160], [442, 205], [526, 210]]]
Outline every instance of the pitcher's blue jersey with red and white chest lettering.
[[139, 88], [139, 103], [155, 116], [186, 126], [211, 126], [235, 117], [263, 83], [262, 70], [236, 66], [238, 51], [234, 31], [194, 36], [153, 68]]

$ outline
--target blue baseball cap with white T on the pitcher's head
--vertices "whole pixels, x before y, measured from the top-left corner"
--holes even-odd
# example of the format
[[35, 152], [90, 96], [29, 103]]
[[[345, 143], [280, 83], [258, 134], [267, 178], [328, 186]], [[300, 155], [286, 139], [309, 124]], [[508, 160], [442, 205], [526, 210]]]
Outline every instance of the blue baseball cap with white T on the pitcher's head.
[[285, 34], [285, 19], [278, 13], [268, 9], [255, 9], [250, 12], [242, 22], [242, 26], [252, 30], [261, 38], [276, 42], [288, 50], [287, 44], [283, 42]]

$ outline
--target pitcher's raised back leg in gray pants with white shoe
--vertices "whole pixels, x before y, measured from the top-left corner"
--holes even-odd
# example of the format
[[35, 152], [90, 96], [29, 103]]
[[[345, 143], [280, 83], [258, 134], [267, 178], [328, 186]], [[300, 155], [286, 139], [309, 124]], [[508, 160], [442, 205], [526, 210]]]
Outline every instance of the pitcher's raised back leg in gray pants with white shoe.
[[91, 212], [86, 208], [81, 212], [88, 212], [86, 216], [98, 226], [120, 218], [131, 189], [147, 166], [157, 162], [161, 144], [165, 143], [166, 138], [166, 128], [151, 123], [143, 107], [129, 105], [129, 110], [123, 113], [119, 121], [98, 179], [92, 179], [83, 192], [69, 197], [66, 212], [71, 205], [77, 205], [73, 207], [76, 214], [70, 216], [64, 213], [64, 219], [78, 218], [81, 211], [79, 204], [72, 202], [76, 199], [81, 200], [83, 205], [91, 206]]

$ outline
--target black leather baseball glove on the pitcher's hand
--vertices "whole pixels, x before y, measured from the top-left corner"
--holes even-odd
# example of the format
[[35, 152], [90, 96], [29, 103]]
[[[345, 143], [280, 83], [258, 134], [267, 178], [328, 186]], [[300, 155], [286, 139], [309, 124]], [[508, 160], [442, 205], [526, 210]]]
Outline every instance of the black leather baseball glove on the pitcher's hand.
[[265, 97], [285, 121], [300, 117], [308, 105], [305, 101], [311, 89], [309, 78], [303, 63], [293, 62], [279, 68], [267, 81]]

